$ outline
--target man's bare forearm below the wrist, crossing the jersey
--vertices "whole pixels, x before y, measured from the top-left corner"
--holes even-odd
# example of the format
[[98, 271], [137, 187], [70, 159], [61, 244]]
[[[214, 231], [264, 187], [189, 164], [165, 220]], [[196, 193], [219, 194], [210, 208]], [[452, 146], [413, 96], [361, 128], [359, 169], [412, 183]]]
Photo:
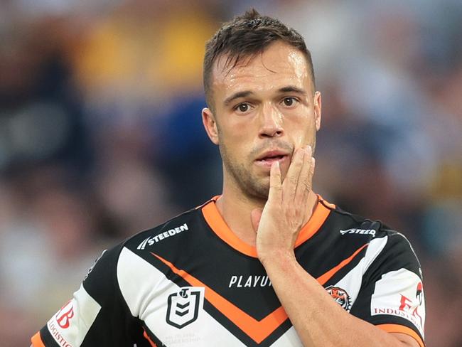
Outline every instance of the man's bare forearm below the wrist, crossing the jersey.
[[392, 334], [348, 314], [293, 254], [273, 253], [262, 263], [303, 346], [406, 346]]

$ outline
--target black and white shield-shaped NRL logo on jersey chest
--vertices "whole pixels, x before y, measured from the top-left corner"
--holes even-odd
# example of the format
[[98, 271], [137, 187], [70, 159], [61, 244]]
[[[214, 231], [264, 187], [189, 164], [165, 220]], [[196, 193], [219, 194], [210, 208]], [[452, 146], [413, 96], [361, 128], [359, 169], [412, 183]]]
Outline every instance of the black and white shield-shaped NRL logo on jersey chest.
[[181, 329], [198, 319], [199, 309], [204, 305], [204, 289], [181, 287], [178, 292], [170, 294], [167, 300], [167, 323]]

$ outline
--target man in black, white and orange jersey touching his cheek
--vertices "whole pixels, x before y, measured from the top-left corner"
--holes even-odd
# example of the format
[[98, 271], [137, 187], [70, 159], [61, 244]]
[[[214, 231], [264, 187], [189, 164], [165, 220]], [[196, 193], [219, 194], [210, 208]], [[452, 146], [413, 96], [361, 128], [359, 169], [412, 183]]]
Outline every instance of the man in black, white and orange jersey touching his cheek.
[[424, 346], [409, 242], [311, 190], [303, 38], [249, 11], [207, 43], [204, 86], [222, 195], [103, 252], [33, 346]]

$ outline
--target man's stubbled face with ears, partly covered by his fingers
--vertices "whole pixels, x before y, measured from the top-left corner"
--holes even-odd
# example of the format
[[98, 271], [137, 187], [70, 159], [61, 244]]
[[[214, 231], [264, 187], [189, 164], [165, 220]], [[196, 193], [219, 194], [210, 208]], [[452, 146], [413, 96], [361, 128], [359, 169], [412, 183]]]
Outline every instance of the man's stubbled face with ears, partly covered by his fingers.
[[314, 148], [321, 95], [313, 92], [303, 53], [281, 41], [232, 70], [226, 58], [214, 65], [214, 112], [203, 110], [205, 129], [220, 146], [227, 188], [267, 199], [272, 163], [279, 161], [284, 179], [294, 150]]

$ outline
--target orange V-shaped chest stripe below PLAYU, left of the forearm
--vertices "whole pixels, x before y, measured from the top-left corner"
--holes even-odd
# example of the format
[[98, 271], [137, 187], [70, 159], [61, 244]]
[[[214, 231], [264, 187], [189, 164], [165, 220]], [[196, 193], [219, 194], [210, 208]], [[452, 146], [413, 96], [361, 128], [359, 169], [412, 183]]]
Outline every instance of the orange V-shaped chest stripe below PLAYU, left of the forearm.
[[183, 277], [183, 279], [191, 286], [204, 287], [205, 299], [215, 306], [218, 311], [227, 316], [227, 318], [239, 327], [239, 329], [247, 333], [247, 335], [256, 343], [262, 342], [288, 318], [286, 311], [284, 311], [282, 306], [279, 306], [279, 308], [272, 311], [272, 313], [268, 314], [268, 316], [264, 317], [264, 319], [257, 321], [257, 319], [254, 319], [252, 316], [246, 314], [239, 307], [232, 304], [203, 282], [200, 282], [199, 279], [188, 274], [188, 272], [182, 269], [177, 269], [171, 262], [168, 262], [168, 260], [163, 259], [153, 252], [151, 252], [151, 255], [154, 255], [154, 257], [161, 260], [161, 262], [170, 267], [174, 273], [178, 274], [178, 276]]

